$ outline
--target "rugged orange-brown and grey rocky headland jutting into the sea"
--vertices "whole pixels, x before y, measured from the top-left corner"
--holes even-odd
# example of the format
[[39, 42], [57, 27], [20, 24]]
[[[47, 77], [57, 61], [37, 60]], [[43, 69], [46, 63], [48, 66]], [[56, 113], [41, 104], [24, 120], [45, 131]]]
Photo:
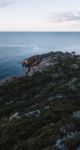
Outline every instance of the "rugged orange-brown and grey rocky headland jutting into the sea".
[[25, 74], [27, 76], [32, 76], [37, 72], [42, 72], [47, 70], [47, 68], [57, 65], [58, 59], [66, 60], [68, 57], [73, 58], [74, 52], [63, 53], [63, 52], [50, 52], [42, 55], [35, 55], [28, 59], [24, 59], [22, 62], [23, 67], [25, 67]]

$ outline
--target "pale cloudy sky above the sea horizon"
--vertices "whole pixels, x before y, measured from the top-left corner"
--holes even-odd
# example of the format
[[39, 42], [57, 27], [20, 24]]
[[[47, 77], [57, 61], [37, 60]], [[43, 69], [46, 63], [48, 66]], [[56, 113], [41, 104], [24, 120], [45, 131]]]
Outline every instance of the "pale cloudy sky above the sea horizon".
[[80, 0], [0, 0], [0, 31], [80, 31]]

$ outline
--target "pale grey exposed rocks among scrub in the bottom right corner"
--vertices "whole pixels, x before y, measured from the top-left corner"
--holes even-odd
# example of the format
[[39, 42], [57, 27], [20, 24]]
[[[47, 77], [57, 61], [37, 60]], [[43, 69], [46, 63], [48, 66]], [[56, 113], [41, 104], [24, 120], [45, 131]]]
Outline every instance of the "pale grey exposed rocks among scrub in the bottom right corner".
[[[69, 149], [70, 141], [80, 141], [80, 132], [77, 131], [76, 124], [70, 123], [60, 129], [61, 138], [56, 141], [56, 146], [61, 149]], [[74, 143], [75, 144], [75, 143]]]

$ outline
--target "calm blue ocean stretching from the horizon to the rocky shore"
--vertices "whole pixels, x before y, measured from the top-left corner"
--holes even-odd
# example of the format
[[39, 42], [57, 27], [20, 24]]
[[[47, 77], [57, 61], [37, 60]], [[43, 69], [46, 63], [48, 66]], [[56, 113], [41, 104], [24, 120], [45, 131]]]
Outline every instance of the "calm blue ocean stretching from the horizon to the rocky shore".
[[22, 76], [24, 58], [50, 51], [80, 54], [80, 32], [0, 32], [0, 80]]

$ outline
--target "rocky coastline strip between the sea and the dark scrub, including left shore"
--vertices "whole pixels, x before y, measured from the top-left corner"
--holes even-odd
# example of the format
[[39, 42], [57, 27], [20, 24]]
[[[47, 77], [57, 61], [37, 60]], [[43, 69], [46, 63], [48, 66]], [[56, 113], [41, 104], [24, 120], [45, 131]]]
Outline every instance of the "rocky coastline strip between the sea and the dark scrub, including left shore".
[[[59, 58], [63, 60], [66, 57], [80, 57], [80, 55], [76, 55], [75, 52], [69, 53], [69, 52], [62, 52], [62, 51], [57, 51], [57, 52], [48, 52], [48, 53], [43, 53], [40, 55], [33, 55], [29, 58], [25, 58], [23, 59], [23, 61], [21, 62], [22, 67], [24, 67], [24, 75], [22, 76], [9, 76], [6, 77], [4, 79], [0, 80], [0, 86], [3, 86], [5, 84], [8, 84], [10, 82], [16, 81], [18, 79], [22, 79], [25, 77], [31, 77], [32, 75], [34, 75], [37, 72], [42, 72], [44, 70], [46, 70], [49, 66], [53, 66], [55, 64], [55, 62], [57, 62], [57, 60]], [[54, 63], [52, 63], [52, 58], [54, 57]]]

